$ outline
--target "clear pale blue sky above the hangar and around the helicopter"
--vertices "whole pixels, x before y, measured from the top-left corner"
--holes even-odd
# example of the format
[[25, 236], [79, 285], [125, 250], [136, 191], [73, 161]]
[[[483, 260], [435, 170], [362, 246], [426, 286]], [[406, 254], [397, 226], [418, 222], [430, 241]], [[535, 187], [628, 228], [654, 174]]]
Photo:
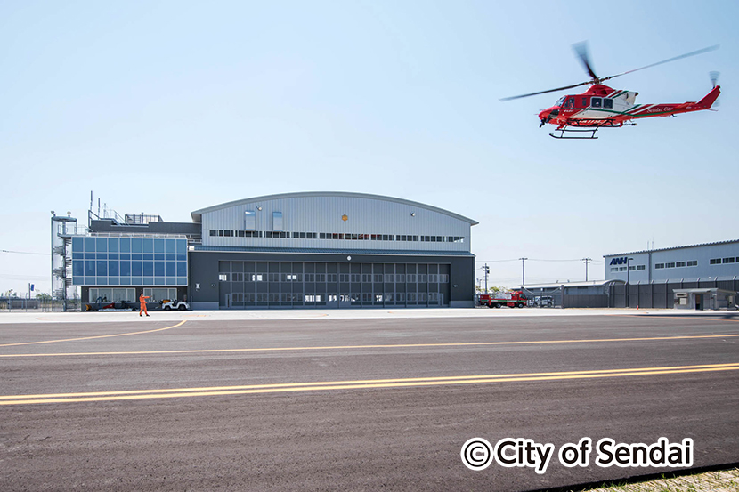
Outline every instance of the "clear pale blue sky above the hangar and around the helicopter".
[[[491, 284], [603, 278], [603, 254], [739, 238], [739, 4], [0, 3], [0, 292], [48, 291], [50, 211], [86, 223], [291, 191], [408, 198], [480, 222]], [[499, 98], [721, 44], [613, 79], [637, 102], [718, 112], [556, 141]]]

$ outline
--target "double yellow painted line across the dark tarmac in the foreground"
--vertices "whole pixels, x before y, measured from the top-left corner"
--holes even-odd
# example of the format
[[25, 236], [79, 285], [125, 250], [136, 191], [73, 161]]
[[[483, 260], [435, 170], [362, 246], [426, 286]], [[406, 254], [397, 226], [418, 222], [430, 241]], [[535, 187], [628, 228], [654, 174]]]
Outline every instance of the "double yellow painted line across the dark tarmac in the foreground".
[[558, 373], [532, 373], [508, 375], [464, 375], [421, 377], [403, 379], [370, 379], [354, 381], [326, 381], [313, 383], [275, 383], [244, 386], [214, 386], [201, 388], [173, 388], [158, 390], [99, 391], [89, 393], [52, 393], [37, 395], [0, 396], [0, 406], [33, 405], [41, 403], [81, 403], [90, 401], [118, 401], [128, 399], [186, 398], [256, 393], [295, 391], [331, 391], [377, 388], [402, 388], [441, 386], [475, 383], [513, 383], [529, 381], [564, 381], [600, 377], [624, 377], [634, 375], [671, 375], [739, 370], [739, 363], [705, 364], [699, 366], [637, 367], [628, 369], [602, 369], [591, 371], [566, 371]]

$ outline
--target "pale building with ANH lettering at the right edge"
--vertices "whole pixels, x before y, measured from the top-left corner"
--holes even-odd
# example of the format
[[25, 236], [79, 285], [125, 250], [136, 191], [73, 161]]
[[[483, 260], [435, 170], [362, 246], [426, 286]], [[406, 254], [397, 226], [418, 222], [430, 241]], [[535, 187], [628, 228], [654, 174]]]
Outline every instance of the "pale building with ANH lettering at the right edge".
[[735, 304], [739, 239], [606, 254], [604, 259], [605, 279], [627, 284], [611, 286], [613, 307], [702, 310]]

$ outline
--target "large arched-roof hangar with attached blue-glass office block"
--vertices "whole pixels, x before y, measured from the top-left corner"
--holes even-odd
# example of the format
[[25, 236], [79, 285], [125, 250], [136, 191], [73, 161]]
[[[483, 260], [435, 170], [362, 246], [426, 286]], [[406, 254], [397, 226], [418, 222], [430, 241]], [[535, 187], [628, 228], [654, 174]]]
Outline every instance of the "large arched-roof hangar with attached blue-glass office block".
[[434, 206], [307, 192], [210, 206], [187, 223], [128, 217], [96, 217], [65, 238], [83, 302], [145, 294], [194, 309], [474, 305], [477, 222]]

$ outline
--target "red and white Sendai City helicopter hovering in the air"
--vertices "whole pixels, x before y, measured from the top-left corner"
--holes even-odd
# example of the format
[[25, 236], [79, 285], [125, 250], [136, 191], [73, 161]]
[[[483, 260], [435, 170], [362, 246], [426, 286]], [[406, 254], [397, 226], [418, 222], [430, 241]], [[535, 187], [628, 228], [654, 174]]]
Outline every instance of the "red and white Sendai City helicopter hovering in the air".
[[[719, 49], [719, 45], [710, 46], [695, 52], [681, 54], [668, 60], [658, 61], [639, 69], [628, 70], [608, 77], [597, 77], [596, 72], [593, 70], [593, 66], [590, 63], [588, 44], [586, 42], [573, 44], [573, 50], [580, 57], [585, 71], [588, 72], [588, 75], [591, 77], [590, 80], [579, 84], [557, 87], [556, 89], [548, 89], [538, 93], [528, 93], [507, 97], [500, 101], [511, 101], [539, 94], [564, 91], [580, 85], [590, 85], [589, 89], [585, 93], [564, 95], [556, 101], [554, 106], [540, 111], [539, 127], [541, 128], [547, 124], [556, 125], [556, 130], [554, 132], [559, 132], [559, 134], [549, 133], [549, 136], [556, 139], [597, 139], [596, 132], [600, 128], [621, 128], [621, 126], [624, 125], [636, 126], [637, 124], [633, 120], [646, 117], [674, 117], [678, 113], [711, 109], [711, 106], [721, 93], [720, 85], [716, 85], [719, 77], [718, 72], [711, 72], [713, 89], [703, 97], [701, 101], [697, 102], [637, 104], [636, 99], [639, 93], [615, 90], [603, 83], [614, 77], [621, 77], [622, 75], [630, 74], [638, 70], [649, 69], [656, 65], [662, 65], [662, 63], [680, 60], [689, 56], [711, 52], [717, 49]], [[590, 134], [587, 135], [586, 133]]]

